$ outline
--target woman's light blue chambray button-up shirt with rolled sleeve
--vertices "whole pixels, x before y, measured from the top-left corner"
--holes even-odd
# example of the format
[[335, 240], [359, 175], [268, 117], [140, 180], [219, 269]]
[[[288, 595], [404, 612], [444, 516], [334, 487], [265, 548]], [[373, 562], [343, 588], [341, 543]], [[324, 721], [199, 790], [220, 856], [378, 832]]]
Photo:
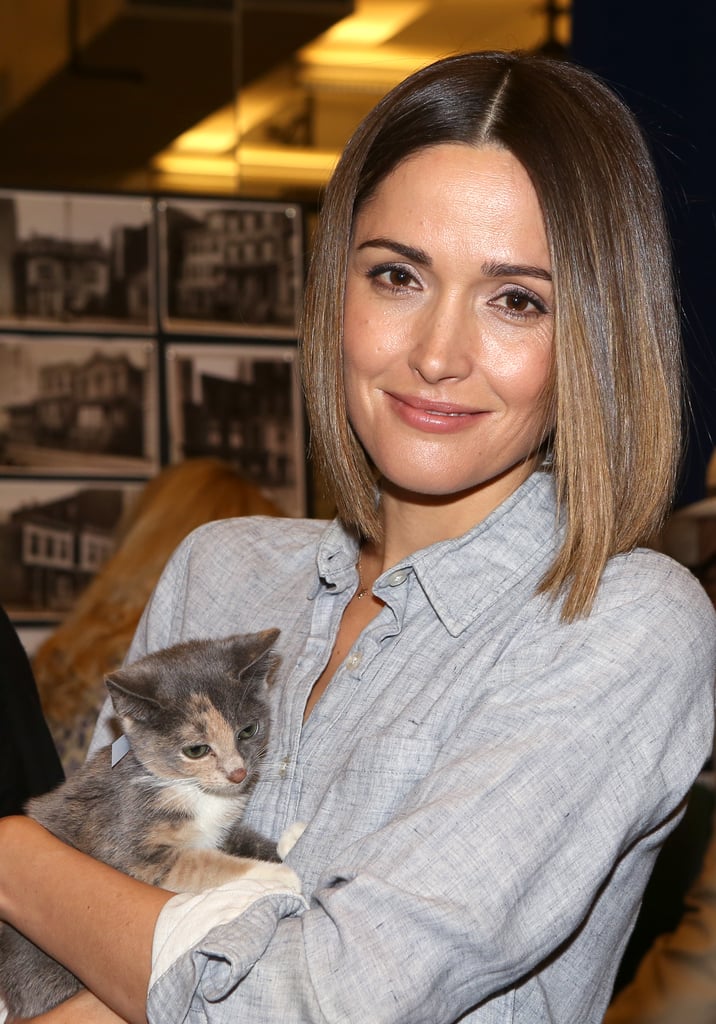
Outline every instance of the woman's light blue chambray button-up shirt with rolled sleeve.
[[289, 863], [309, 908], [268, 896], [214, 928], [154, 985], [152, 1024], [601, 1021], [711, 750], [716, 615], [686, 569], [638, 550], [565, 625], [535, 593], [558, 539], [539, 472], [394, 566], [305, 725], [354, 541], [259, 518], [180, 547], [130, 657], [281, 628], [271, 769], [248, 821], [277, 838], [307, 822]]

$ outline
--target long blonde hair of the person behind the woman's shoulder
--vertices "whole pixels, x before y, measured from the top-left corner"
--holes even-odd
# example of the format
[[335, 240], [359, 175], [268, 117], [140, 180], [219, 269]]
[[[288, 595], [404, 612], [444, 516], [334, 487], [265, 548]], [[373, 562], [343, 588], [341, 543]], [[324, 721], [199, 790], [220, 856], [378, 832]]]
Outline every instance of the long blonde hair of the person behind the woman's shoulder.
[[33, 659], [43, 711], [66, 771], [84, 760], [107, 695], [164, 565], [195, 527], [214, 519], [281, 515], [255, 484], [217, 459], [168, 466], [118, 527], [117, 547]]

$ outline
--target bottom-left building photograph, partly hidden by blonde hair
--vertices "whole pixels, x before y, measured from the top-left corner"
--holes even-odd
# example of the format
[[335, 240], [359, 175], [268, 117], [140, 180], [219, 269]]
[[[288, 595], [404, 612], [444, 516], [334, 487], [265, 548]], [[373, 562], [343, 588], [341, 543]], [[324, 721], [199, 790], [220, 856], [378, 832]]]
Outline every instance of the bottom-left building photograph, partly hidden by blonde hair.
[[141, 486], [0, 480], [0, 604], [8, 615], [61, 618], [114, 551]]

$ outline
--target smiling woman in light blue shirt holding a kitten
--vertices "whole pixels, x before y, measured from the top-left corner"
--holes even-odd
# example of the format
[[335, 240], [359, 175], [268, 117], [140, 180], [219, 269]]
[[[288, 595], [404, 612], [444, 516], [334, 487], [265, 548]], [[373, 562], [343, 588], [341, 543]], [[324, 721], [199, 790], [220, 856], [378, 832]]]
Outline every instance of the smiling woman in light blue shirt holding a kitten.
[[48, 1021], [148, 988], [172, 1024], [601, 1019], [713, 731], [713, 609], [637, 547], [679, 443], [658, 195], [621, 103], [535, 56], [439, 61], [359, 128], [304, 330], [339, 519], [195, 532], [129, 655], [281, 628], [248, 821], [305, 822], [306, 902], [172, 898], [9, 819], [0, 916], [99, 1000]]

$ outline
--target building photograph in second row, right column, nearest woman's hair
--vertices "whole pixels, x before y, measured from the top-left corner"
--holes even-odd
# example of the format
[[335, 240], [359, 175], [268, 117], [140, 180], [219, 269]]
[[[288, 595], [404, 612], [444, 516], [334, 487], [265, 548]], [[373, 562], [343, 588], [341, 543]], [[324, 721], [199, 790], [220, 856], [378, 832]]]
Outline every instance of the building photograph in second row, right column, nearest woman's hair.
[[166, 355], [170, 461], [223, 459], [286, 515], [305, 515], [295, 346], [174, 344]]

